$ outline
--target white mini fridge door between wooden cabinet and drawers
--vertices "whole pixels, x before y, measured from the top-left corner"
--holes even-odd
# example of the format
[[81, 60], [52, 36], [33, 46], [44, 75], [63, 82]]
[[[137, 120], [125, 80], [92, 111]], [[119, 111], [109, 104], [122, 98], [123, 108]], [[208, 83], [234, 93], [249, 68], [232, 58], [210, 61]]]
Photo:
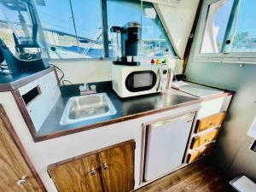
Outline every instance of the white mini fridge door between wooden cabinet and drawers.
[[144, 166], [146, 181], [182, 165], [194, 116], [195, 113], [187, 113], [148, 126]]

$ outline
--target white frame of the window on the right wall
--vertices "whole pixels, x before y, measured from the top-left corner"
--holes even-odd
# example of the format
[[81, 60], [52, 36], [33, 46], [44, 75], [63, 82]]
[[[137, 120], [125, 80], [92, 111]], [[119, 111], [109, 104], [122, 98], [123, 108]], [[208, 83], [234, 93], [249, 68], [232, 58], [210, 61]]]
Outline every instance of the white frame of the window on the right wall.
[[[223, 52], [223, 53], [201, 53], [201, 44], [204, 38], [207, 26], [207, 14], [212, 3], [218, 3], [220, 0], [205, 0], [201, 9], [199, 25], [195, 36], [195, 61], [212, 61], [240, 64], [256, 64], [256, 52]], [[232, 13], [231, 13], [232, 15]], [[230, 26], [227, 26], [227, 31]]]

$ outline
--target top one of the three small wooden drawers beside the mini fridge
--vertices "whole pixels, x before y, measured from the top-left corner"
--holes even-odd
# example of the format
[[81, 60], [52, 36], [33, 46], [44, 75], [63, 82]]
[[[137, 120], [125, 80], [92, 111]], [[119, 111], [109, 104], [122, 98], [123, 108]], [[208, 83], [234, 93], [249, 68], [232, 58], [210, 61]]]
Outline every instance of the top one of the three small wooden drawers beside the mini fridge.
[[211, 116], [203, 119], [198, 119], [195, 127], [195, 133], [206, 131], [212, 127], [220, 127], [224, 121], [225, 115], [225, 112], [221, 112], [212, 114]]

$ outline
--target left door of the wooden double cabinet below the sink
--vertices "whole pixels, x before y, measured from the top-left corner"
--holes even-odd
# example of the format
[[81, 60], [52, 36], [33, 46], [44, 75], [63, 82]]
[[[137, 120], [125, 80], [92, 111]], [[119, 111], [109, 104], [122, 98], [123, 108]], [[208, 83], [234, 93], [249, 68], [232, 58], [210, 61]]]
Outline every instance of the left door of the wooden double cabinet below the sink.
[[49, 167], [59, 192], [102, 192], [96, 154], [73, 160], [61, 166]]

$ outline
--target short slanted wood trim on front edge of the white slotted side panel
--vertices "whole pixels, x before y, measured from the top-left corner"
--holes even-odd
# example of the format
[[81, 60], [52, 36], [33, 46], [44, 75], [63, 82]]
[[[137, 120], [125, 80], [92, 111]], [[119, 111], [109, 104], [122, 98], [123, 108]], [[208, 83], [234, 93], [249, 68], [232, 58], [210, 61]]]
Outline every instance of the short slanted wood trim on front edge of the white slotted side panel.
[[18, 108], [20, 109], [20, 113], [21, 113], [22, 117], [26, 122], [26, 126], [27, 126], [28, 130], [30, 131], [32, 138], [34, 139], [34, 137], [37, 137], [38, 133], [36, 131], [35, 125], [32, 122], [32, 119], [26, 109], [26, 104], [23, 101], [22, 96], [20, 96], [20, 91], [19, 90], [12, 91], [12, 94], [15, 98], [15, 102], [16, 102]]

